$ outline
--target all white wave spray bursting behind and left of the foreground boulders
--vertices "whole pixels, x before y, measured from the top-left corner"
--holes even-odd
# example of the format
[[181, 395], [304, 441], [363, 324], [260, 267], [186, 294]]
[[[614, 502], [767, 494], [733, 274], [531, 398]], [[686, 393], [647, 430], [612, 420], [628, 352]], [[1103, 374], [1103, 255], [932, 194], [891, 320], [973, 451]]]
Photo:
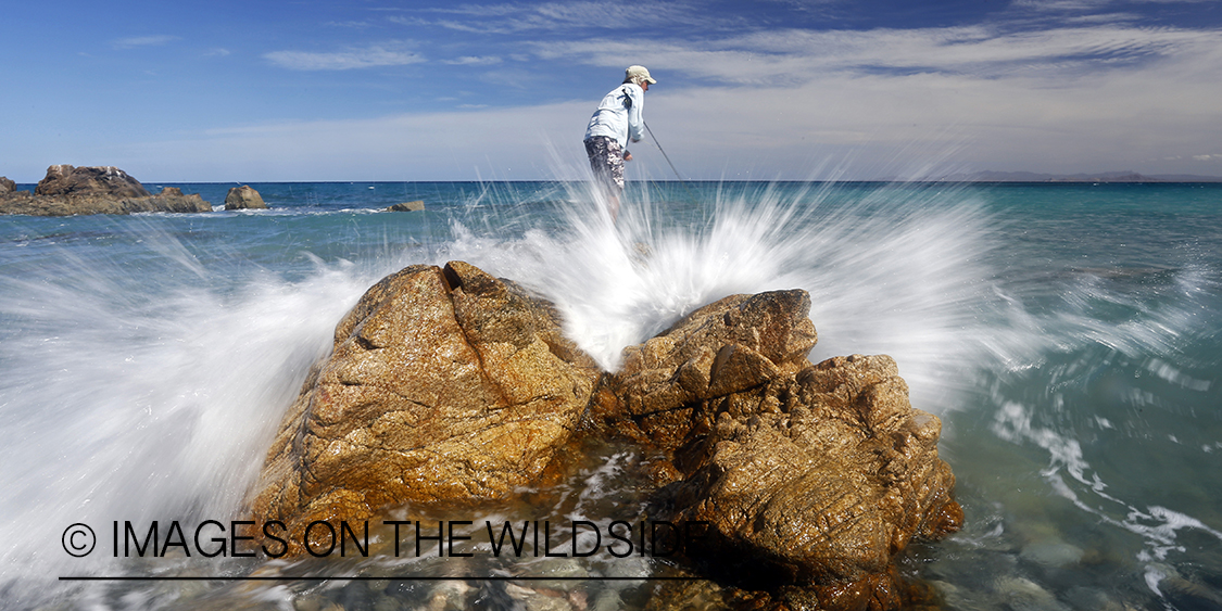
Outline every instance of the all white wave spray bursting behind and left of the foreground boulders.
[[[968, 358], [954, 329], [970, 318], [987, 240], [970, 203], [926, 211], [937, 193], [863, 189], [832, 205], [829, 187], [774, 186], [719, 192], [708, 209], [637, 202], [612, 227], [596, 197], [571, 188], [558, 213], [519, 222], [516, 237], [503, 226], [477, 235], [468, 225], [507, 213], [468, 210], [425, 257], [470, 260], [552, 299], [607, 369], [705, 303], [793, 287], [811, 292], [820, 358], [888, 352], [915, 395], [935, 393], [938, 368]], [[381, 274], [420, 258], [316, 262], [290, 281], [240, 265], [243, 246], [204, 263], [189, 232], [110, 222], [92, 241], [68, 231], [6, 246], [29, 248], [0, 297], [0, 540], [5, 565], [22, 567], [10, 587], [105, 572], [106, 558], [65, 563], [48, 545], [71, 523], [237, 516], [335, 323]]]

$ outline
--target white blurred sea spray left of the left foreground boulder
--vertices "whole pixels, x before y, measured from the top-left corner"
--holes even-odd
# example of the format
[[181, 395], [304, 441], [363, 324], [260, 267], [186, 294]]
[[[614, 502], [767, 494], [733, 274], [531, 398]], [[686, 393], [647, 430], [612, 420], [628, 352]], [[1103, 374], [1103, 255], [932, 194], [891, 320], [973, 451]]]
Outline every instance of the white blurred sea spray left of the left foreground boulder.
[[[216, 281], [230, 271], [134, 222], [132, 260], [53, 249], [42, 280], [0, 280], [16, 326], [0, 342], [2, 607], [55, 595], [48, 576], [130, 569], [116, 524], [241, 519], [280, 414], [374, 280], [341, 264]], [[89, 556], [61, 545], [71, 524], [97, 536]]]

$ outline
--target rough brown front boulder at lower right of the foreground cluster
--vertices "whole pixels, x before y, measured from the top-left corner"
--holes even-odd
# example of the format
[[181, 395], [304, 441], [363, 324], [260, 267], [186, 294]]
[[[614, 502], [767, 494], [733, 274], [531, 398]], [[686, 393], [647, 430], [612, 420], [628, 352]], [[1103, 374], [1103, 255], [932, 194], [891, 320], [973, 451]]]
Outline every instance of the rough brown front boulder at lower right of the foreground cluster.
[[962, 523], [941, 422], [912, 408], [890, 357], [837, 357], [703, 408], [715, 424], [667, 499], [710, 523], [693, 560], [749, 558], [733, 579], [895, 609], [897, 554]]

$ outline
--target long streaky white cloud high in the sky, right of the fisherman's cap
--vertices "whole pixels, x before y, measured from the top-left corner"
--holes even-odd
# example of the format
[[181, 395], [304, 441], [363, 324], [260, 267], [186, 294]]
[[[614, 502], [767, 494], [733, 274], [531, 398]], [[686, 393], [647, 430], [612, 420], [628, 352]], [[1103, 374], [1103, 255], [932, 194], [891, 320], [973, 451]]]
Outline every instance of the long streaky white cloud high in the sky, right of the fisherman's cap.
[[1044, 72], [1067, 76], [1166, 57], [1222, 55], [1222, 32], [1123, 26], [997, 32], [989, 27], [772, 31], [693, 43], [587, 39], [538, 43], [545, 59], [620, 66], [634, 57], [650, 70], [737, 84], [798, 84], [829, 73], [947, 72], [996, 78]]

